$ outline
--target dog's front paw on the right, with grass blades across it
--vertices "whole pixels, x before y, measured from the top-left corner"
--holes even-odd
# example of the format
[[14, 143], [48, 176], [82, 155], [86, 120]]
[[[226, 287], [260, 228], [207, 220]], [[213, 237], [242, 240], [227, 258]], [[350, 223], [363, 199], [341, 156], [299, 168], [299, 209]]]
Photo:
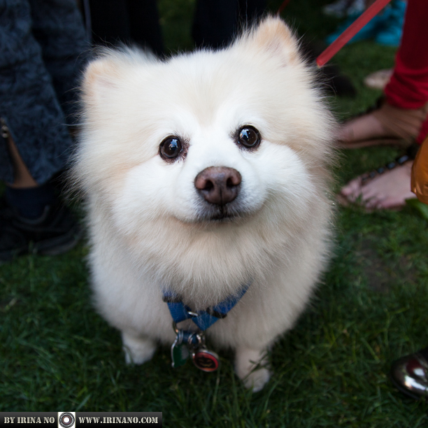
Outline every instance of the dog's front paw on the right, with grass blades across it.
[[235, 357], [235, 370], [238, 377], [243, 381], [246, 388], [252, 392], [258, 392], [271, 377], [267, 369], [268, 360], [265, 350], [254, 350], [249, 348], [238, 348]]

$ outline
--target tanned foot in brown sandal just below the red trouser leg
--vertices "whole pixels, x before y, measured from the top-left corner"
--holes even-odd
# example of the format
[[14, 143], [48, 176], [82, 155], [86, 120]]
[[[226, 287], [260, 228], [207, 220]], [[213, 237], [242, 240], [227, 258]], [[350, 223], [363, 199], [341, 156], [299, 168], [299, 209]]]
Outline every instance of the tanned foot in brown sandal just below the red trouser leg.
[[[369, 115], [372, 115], [380, 122], [383, 129], [385, 129], [385, 135], [374, 136], [373, 138], [354, 138], [355, 131], [357, 128], [364, 128], [364, 118]], [[373, 145], [394, 145], [407, 148], [415, 142], [415, 138], [418, 136], [427, 115], [428, 104], [417, 109], [397, 108], [385, 102], [385, 99], [380, 98], [375, 106], [343, 123], [343, 127], [348, 127], [350, 138], [341, 140], [339, 137], [338, 147], [357, 149]], [[355, 123], [355, 129], [350, 127], [352, 122]]]

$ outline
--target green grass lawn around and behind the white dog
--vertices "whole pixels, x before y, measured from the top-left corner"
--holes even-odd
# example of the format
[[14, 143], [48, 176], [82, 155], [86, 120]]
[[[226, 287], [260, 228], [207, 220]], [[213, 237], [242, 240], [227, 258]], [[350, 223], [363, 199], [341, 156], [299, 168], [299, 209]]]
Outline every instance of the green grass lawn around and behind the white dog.
[[[293, 0], [283, 17], [322, 38], [338, 21], [328, 0]], [[276, 10], [280, 0], [270, 1]], [[160, 0], [167, 48], [192, 48], [194, 0]], [[331, 99], [339, 118], [369, 106], [371, 71], [392, 66], [394, 48], [371, 41], [334, 58], [356, 99]], [[341, 154], [337, 186], [397, 155], [392, 148]], [[388, 378], [394, 359], [428, 345], [428, 231], [413, 208], [366, 214], [339, 208], [336, 255], [296, 327], [271, 351], [274, 376], [251, 394], [221, 352], [216, 373], [172, 369], [169, 350], [127, 366], [120, 334], [92, 310], [87, 246], [29, 255], [0, 266], [0, 411], [162, 411], [165, 427], [427, 427], [428, 404]]]

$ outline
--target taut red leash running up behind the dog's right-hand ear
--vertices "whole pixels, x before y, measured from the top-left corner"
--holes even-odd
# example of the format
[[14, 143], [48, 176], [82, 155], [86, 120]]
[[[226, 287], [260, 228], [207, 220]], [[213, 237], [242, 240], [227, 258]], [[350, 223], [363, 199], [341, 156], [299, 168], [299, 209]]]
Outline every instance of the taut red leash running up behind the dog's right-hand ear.
[[[343, 48], [343, 46], [350, 41], [350, 39], [357, 34], [357, 32], [364, 27], [370, 20], [375, 17], [380, 10], [385, 8], [385, 6], [390, 3], [391, 0], [376, 0], [369, 8], [366, 8], [364, 12], [357, 17], [357, 19], [350, 24], [350, 26], [343, 31], [343, 33], [336, 38], [336, 40], [329, 45], [329, 47], [324, 50], [316, 59], [317, 65], [322, 67], [324, 64], [327, 64], [329, 60], [336, 55], [336, 53]], [[278, 9], [278, 15], [284, 10], [285, 6], [290, 2], [290, 0], [285, 0], [280, 8]]]

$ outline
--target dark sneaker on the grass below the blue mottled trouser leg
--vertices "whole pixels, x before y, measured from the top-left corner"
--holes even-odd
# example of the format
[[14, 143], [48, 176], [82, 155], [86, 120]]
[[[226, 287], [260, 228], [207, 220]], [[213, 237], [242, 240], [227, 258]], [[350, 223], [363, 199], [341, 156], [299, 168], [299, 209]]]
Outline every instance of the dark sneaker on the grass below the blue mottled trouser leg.
[[29, 220], [0, 201], [0, 263], [13, 257], [37, 252], [58, 255], [78, 243], [81, 229], [61, 201], [45, 207], [41, 217]]

